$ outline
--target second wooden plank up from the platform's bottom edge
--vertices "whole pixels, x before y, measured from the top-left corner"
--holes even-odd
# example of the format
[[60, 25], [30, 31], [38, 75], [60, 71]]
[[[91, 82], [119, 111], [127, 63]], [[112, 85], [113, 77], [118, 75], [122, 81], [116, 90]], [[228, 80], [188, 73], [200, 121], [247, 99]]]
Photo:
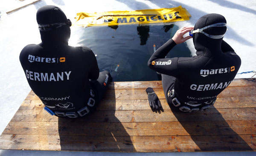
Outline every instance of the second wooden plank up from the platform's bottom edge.
[[17, 122], [3, 134], [69, 136], [198, 136], [256, 134], [255, 120], [183, 122]]

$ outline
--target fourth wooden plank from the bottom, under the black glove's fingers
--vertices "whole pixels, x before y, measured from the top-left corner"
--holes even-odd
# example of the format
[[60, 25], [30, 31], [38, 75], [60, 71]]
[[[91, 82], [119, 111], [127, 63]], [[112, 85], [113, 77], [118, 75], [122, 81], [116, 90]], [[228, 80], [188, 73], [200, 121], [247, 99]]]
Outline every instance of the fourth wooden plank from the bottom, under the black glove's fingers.
[[[163, 110], [170, 110], [165, 99], [160, 99]], [[256, 97], [217, 98], [215, 108], [254, 108]], [[41, 100], [24, 100], [19, 110], [42, 110]], [[97, 110], [151, 110], [148, 100], [102, 100]]]

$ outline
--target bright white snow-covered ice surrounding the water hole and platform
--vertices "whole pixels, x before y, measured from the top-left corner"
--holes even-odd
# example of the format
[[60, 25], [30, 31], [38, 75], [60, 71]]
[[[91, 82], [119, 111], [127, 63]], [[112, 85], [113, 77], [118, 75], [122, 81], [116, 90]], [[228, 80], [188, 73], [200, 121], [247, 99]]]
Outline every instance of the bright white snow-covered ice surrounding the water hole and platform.
[[[180, 27], [194, 26], [204, 14], [222, 14], [228, 25], [224, 40], [235, 49], [242, 61], [239, 72], [256, 70], [255, 0], [41, 0], [11, 14], [5, 13], [17, 3], [23, 2], [0, 0], [0, 133], [31, 90], [21, 68], [19, 54], [27, 44], [41, 42], [36, 12], [44, 5], [60, 7], [72, 21], [78, 12], [172, 8], [181, 5], [192, 17], [188, 21], [177, 22]], [[195, 53], [192, 40], [188, 40], [187, 44]], [[236, 78], [250, 78], [253, 75], [242, 74]]]

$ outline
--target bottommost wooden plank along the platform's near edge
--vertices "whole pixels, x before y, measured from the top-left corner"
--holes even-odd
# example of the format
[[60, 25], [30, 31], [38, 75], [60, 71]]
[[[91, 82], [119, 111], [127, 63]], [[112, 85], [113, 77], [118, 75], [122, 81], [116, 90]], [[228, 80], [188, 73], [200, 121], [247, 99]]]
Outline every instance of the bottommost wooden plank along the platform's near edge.
[[116, 152], [194, 152], [256, 150], [255, 135], [222, 136], [0, 136], [0, 149]]

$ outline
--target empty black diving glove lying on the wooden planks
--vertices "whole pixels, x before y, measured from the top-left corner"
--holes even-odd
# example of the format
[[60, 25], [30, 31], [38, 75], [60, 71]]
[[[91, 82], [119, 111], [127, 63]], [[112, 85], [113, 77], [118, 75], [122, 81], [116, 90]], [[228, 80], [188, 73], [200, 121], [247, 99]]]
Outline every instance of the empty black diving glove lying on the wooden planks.
[[159, 98], [157, 97], [156, 93], [154, 92], [153, 88], [148, 87], [146, 89], [146, 92], [148, 94], [148, 102], [149, 102], [149, 106], [154, 110], [154, 109], [158, 109], [161, 108], [162, 105], [160, 103]]

